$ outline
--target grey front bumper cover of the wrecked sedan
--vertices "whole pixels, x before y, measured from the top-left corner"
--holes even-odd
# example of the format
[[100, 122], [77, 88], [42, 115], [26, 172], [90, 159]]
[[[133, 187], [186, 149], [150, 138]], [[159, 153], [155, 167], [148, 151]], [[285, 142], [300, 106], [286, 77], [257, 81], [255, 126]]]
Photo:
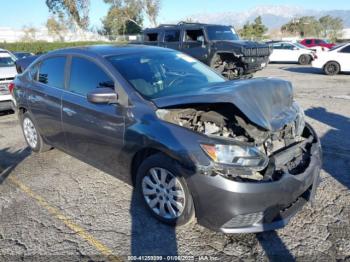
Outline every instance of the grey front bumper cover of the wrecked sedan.
[[236, 182], [220, 175], [188, 178], [198, 222], [224, 233], [253, 233], [284, 227], [313, 200], [322, 165], [321, 146], [311, 147], [308, 167], [273, 182]]

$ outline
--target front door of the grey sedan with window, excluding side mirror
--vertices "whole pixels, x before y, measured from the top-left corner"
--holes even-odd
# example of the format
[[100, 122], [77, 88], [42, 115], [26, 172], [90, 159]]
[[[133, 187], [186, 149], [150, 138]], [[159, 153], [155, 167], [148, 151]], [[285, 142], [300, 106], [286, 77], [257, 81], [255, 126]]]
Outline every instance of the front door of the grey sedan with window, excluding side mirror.
[[62, 123], [69, 151], [104, 167], [118, 165], [124, 138], [124, 111], [120, 105], [94, 104], [87, 94], [96, 88], [114, 88], [101, 64], [73, 56], [68, 89], [62, 97]]

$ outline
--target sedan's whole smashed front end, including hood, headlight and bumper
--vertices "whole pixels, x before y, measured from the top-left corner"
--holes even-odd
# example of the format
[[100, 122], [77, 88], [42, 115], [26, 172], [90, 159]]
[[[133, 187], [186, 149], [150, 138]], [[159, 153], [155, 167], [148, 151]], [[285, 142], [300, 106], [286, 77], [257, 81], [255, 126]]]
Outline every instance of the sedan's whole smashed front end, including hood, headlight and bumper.
[[200, 224], [226, 233], [274, 230], [314, 199], [320, 143], [289, 82], [225, 82], [154, 102], [158, 118], [198, 134], [187, 181]]

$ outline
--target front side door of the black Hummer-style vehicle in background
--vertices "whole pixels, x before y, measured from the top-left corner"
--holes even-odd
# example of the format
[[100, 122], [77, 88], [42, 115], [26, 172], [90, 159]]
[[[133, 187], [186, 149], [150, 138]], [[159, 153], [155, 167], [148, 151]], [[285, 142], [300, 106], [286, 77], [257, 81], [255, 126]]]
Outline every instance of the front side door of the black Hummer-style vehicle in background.
[[208, 60], [208, 46], [205, 39], [203, 28], [184, 28], [181, 51], [205, 63]]

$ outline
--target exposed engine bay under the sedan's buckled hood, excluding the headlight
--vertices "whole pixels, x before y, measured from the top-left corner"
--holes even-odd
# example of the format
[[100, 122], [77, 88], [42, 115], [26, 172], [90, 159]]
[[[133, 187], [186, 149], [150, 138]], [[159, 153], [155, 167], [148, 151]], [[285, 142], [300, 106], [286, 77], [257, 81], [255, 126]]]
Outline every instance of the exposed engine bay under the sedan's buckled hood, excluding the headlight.
[[254, 146], [269, 158], [263, 170], [251, 172], [229, 168], [220, 170], [218, 165], [217, 173], [234, 180], [278, 180], [283, 173], [296, 175], [303, 172], [310, 161], [314, 137], [306, 130], [304, 119], [295, 119], [283, 129], [272, 132], [253, 124], [237, 108], [227, 104], [159, 109], [157, 115], [167, 122], [209, 137]]

